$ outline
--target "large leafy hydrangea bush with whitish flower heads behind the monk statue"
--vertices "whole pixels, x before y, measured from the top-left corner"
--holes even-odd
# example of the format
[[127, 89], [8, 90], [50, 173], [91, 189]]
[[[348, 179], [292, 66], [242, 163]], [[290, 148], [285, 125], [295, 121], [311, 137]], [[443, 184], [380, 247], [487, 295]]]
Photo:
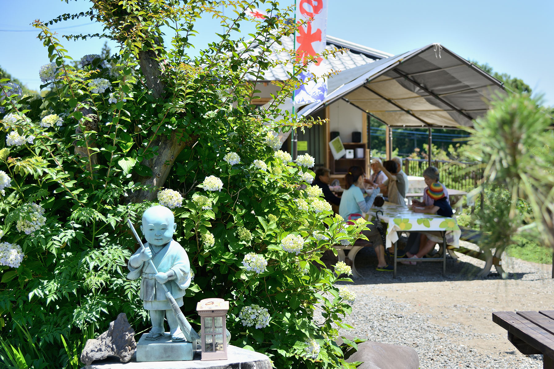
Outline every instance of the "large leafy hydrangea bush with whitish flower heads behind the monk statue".
[[[278, 108], [296, 77], [261, 108], [252, 103], [255, 85], [244, 83], [247, 75], [263, 80], [260, 66], [276, 63], [270, 44], [295, 28], [288, 9], [232, 3], [237, 20], [208, 2], [96, 0], [91, 14], [121, 51], [106, 60], [85, 55], [76, 66], [46, 24], [35, 23], [49, 61], [37, 73], [50, 90], [37, 100], [0, 85], [2, 340], [40, 353], [36, 360], [50, 367], [79, 367], [86, 338], [117, 314], [145, 330], [139, 282], [126, 279], [137, 248], [126, 220], [138, 228], [142, 212], [162, 204], [175, 213], [175, 239], [191, 259], [182, 310], [196, 328], [198, 300], [224, 298], [231, 343], [264, 352], [275, 367], [355, 367], [334, 342], [353, 301], [334, 283], [350, 279], [320, 257], [353, 242], [363, 225], [345, 225], [320, 190], [303, 189], [313, 157], [295, 163], [278, 151], [275, 132], [312, 123]], [[271, 17], [247, 18], [240, 7], [248, 6]], [[222, 17], [229, 29], [253, 22], [255, 39], [223, 37], [192, 58], [188, 37], [201, 15]], [[178, 37], [160, 44], [152, 24], [174, 23]], [[256, 58], [244, 58], [243, 48], [254, 46]]]

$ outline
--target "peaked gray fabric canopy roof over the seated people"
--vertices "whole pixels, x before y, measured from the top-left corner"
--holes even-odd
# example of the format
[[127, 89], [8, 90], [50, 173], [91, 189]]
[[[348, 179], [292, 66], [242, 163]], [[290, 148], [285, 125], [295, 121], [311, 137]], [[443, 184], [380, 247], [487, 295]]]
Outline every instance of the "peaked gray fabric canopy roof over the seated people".
[[328, 86], [323, 102], [299, 113], [342, 99], [388, 126], [471, 127], [503, 91], [499, 80], [439, 44], [340, 72]]

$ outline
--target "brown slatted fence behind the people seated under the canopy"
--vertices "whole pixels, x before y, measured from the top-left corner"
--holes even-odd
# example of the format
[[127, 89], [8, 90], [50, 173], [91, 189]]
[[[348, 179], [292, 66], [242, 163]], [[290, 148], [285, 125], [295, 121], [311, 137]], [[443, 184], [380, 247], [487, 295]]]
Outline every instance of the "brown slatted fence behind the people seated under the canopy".
[[[405, 158], [402, 164], [407, 175], [423, 176], [423, 171], [429, 167], [429, 161], [425, 159]], [[481, 179], [480, 171], [468, 169], [474, 163], [431, 160], [431, 164], [439, 169], [440, 182], [450, 189], [470, 191], [477, 187]]]

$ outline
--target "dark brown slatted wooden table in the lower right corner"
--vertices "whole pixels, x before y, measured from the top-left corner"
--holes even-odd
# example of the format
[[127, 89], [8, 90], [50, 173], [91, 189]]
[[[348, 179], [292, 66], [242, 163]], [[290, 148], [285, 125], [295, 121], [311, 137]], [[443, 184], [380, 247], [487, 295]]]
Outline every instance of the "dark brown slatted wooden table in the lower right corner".
[[543, 369], [554, 369], [554, 310], [495, 311], [493, 321], [521, 354], [542, 354]]

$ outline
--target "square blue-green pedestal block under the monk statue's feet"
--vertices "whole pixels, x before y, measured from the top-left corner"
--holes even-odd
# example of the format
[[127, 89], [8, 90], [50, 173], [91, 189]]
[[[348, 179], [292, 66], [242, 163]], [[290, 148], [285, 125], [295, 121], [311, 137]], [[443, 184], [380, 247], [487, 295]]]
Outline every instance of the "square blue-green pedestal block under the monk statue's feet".
[[[140, 337], [137, 344], [136, 361], [183, 361], [194, 358], [191, 342], [173, 342], [166, 333], [157, 340], [147, 340], [147, 333]], [[196, 345], [194, 347], [196, 349]]]

